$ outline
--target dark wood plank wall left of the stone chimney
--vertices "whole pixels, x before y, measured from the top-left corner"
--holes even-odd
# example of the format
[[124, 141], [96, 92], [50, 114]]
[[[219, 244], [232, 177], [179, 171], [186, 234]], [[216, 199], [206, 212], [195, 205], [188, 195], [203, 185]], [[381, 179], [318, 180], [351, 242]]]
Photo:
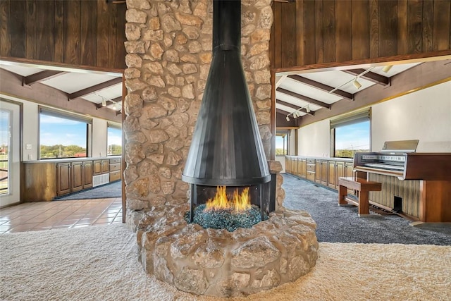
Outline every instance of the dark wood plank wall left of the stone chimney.
[[1, 0], [0, 56], [124, 69], [125, 4]]

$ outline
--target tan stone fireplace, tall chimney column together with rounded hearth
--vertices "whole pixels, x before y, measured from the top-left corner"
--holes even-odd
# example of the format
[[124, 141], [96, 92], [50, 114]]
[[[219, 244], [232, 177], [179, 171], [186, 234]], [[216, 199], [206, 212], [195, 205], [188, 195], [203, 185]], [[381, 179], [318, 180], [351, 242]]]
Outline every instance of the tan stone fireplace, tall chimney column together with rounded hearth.
[[[179, 290], [221, 297], [257, 293], [307, 274], [317, 257], [316, 224], [305, 211], [283, 208], [281, 166], [268, 160], [271, 1], [242, 1], [239, 26], [243, 78], [254, 121], [238, 130], [251, 127], [257, 131], [258, 140], [249, 149], [254, 148], [259, 156], [252, 164], [243, 162], [254, 157], [245, 157], [234, 166], [257, 166], [258, 176], [245, 173], [241, 178], [228, 178], [232, 173], [228, 170], [219, 176], [226, 178], [223, 182], [214, 176], [197, 178], [199, 168], [189, 169], [197, 166], [190, 161], [194, 155], [189, 149], [197, 143], [195, 124], [204, 118], [202, 99], [209, 93], [206, 82], [214, 61], [213, 1], [127, 0], [127, 6], [126, 223], [137, 233], [138, 258], [144, 269]], [[199, 161], [204, 159], [199, 156]], [[249, 181], [252, 178], [257, 182]], [[186, 221], [193, 209], [193, 195], [198, 197], [199, 190], [216, 185], [257, 185], [261, 186], [255, 189], [258, 195], [268, 190], [256, 204], [267, 214], [266, 220], [233, 232]]]

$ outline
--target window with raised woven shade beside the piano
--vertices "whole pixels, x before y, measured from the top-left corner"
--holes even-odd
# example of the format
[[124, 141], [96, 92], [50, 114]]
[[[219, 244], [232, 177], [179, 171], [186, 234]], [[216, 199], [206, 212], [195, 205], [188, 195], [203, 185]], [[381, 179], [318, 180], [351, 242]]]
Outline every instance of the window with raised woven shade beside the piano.
[[330, 120], [330, 137], [335, 157], [354, 158], [356, 152], [370, 152], [370, 109]]

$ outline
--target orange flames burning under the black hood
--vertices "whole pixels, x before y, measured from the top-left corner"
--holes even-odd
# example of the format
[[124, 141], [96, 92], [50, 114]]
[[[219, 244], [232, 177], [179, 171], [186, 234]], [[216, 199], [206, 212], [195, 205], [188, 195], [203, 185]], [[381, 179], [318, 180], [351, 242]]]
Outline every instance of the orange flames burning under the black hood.
[[238, 189], [233, 192], [233, 199], [228, 199], [226, 193], [226, 186], [218, 186], [216, 188], [216, 195], [213, 199], [208, 199], [205, 204], [204, 211], [211, 210], [233, 210], [246, 211], [251, 208], [251, 200], [249, 197], [249, 188], [242, 190], [241, 194]]

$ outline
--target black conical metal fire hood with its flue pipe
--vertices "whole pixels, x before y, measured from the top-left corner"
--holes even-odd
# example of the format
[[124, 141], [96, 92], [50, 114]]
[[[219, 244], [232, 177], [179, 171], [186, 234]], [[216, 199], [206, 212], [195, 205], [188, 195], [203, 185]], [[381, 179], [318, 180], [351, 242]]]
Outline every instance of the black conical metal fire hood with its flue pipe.
[[268, 183], [271, 174], [241, 62], [241, 1], [213, 1], [213, 56], [182, 179]]

